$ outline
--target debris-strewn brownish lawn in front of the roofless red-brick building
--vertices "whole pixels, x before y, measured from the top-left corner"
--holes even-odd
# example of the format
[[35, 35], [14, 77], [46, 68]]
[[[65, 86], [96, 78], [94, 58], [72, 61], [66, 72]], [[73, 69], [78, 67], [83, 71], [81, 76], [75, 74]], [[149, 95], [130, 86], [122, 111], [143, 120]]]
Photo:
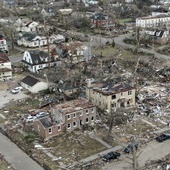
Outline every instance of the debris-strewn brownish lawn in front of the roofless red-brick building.
[[64, 164], [73, 163], [106, 149], [95, 139], [77, 131], [54, 137], [44, 147], [50, 147], [54, 156], [62, 157], [61, 161]]

